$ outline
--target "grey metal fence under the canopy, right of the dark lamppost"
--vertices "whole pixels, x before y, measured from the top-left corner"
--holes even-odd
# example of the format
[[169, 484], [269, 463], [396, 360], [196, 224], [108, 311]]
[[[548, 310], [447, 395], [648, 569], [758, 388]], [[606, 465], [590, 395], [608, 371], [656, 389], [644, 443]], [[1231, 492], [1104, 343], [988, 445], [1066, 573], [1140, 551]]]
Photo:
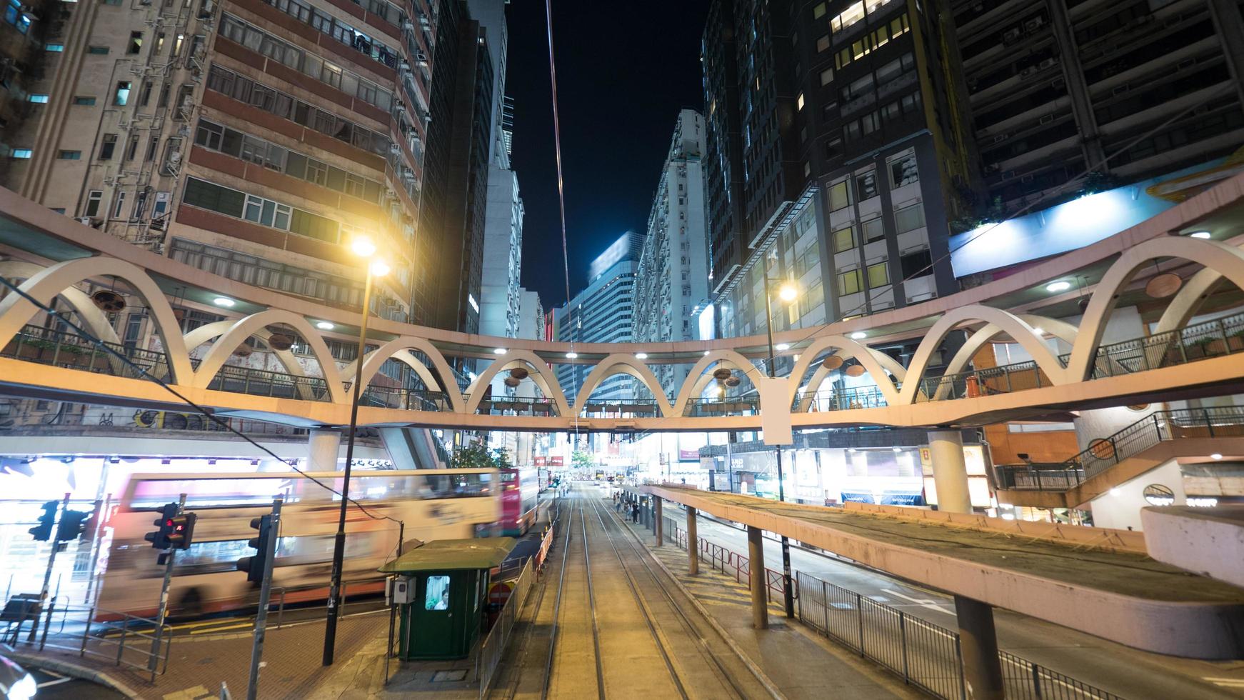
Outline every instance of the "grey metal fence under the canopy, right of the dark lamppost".
[[[959, 633], [804, 572], [796, 578], [800, 622], [934, 698], [968, 698]], [[1006, 698], [1121, 700], [1015, 654], [998, 658]]]

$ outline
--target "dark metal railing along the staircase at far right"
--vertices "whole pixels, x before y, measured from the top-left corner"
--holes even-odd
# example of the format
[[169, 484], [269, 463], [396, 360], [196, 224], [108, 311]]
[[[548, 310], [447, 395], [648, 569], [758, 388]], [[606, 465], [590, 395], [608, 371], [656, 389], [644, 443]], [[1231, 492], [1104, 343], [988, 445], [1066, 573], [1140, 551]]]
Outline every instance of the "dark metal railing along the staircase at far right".
[[1067, 491], [1166, 440], [1239, 436], [1244, 436], [1244, 405], [1159, 410], [1108, 438], [1095, 440], [1066, 461], [999, 465], [998, 486], [1020, 491]]

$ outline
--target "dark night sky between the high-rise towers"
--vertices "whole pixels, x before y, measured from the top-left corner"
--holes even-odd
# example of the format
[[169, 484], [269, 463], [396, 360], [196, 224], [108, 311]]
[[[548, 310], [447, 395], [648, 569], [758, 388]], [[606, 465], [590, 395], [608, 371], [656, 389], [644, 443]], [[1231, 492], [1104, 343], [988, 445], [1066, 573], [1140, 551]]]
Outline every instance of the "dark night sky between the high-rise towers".
[[[627, 229], [643, 231], [678, 109], [703, 111], [708, 0], [552, 0], [570, 292]], [[506, 93], [513, 167], [526, 206], [522, 285], [545, 310], [566, 300], [542, 0], [513, 0]]]

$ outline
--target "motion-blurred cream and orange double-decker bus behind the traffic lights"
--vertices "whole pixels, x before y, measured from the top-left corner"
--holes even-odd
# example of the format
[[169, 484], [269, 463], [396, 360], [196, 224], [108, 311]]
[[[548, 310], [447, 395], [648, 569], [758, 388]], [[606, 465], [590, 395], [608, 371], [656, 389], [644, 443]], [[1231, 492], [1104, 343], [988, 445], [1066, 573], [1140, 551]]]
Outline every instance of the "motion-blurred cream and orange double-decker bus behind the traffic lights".
[[[238, 560], [254, 556], [249, 541], [258, 532], [251, 518], [271, 512], [284, 496], [272, 586], [286, 603], [328, 597], [333, 538], [341, 500], [320, 484], [342, 487], [341, 472], [136, 474], [112, 515], [112, 543], [106, 550], [97, 617], [117, 613], [153, 617], [159, 606], [164, 567], [143, 538], [152, 531], [153, 510], [179, 494], [185, 510], [198, 513], [194, 542], [174, 558], [169, 610], [195, 615], [258, 604], [259, 584], [238, 571]], [[356, 471], [350, 497], [367, 509], [346, 513], [345, 593], [381, 592], [377, 571], [398, 545], [398, 522], [406, 541], [455, 540], [491, 535], [501, 517], [501, 479], [495, 469], [428, 469]], [[371, 515], [368, 515], [371, 513]], [[274, 593], [274, 598], [277, 593]]]

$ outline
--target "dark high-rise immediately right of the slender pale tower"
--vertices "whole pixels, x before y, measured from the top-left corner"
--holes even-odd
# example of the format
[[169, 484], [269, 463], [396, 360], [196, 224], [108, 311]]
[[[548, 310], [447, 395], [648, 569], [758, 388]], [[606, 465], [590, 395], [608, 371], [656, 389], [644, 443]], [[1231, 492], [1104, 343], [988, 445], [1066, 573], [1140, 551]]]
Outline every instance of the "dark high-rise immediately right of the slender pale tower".
[[[715, 0], [704, 30], [710, 301], [725, 336], [765, 331], [764, 277], [794, 279], [780, 261], [815, 239], [805, 235], [816, 208], [799, 158], [790, 21], [787, 2]], [[822, 287], [791, 310], [775, 329], [824, 323]]]

